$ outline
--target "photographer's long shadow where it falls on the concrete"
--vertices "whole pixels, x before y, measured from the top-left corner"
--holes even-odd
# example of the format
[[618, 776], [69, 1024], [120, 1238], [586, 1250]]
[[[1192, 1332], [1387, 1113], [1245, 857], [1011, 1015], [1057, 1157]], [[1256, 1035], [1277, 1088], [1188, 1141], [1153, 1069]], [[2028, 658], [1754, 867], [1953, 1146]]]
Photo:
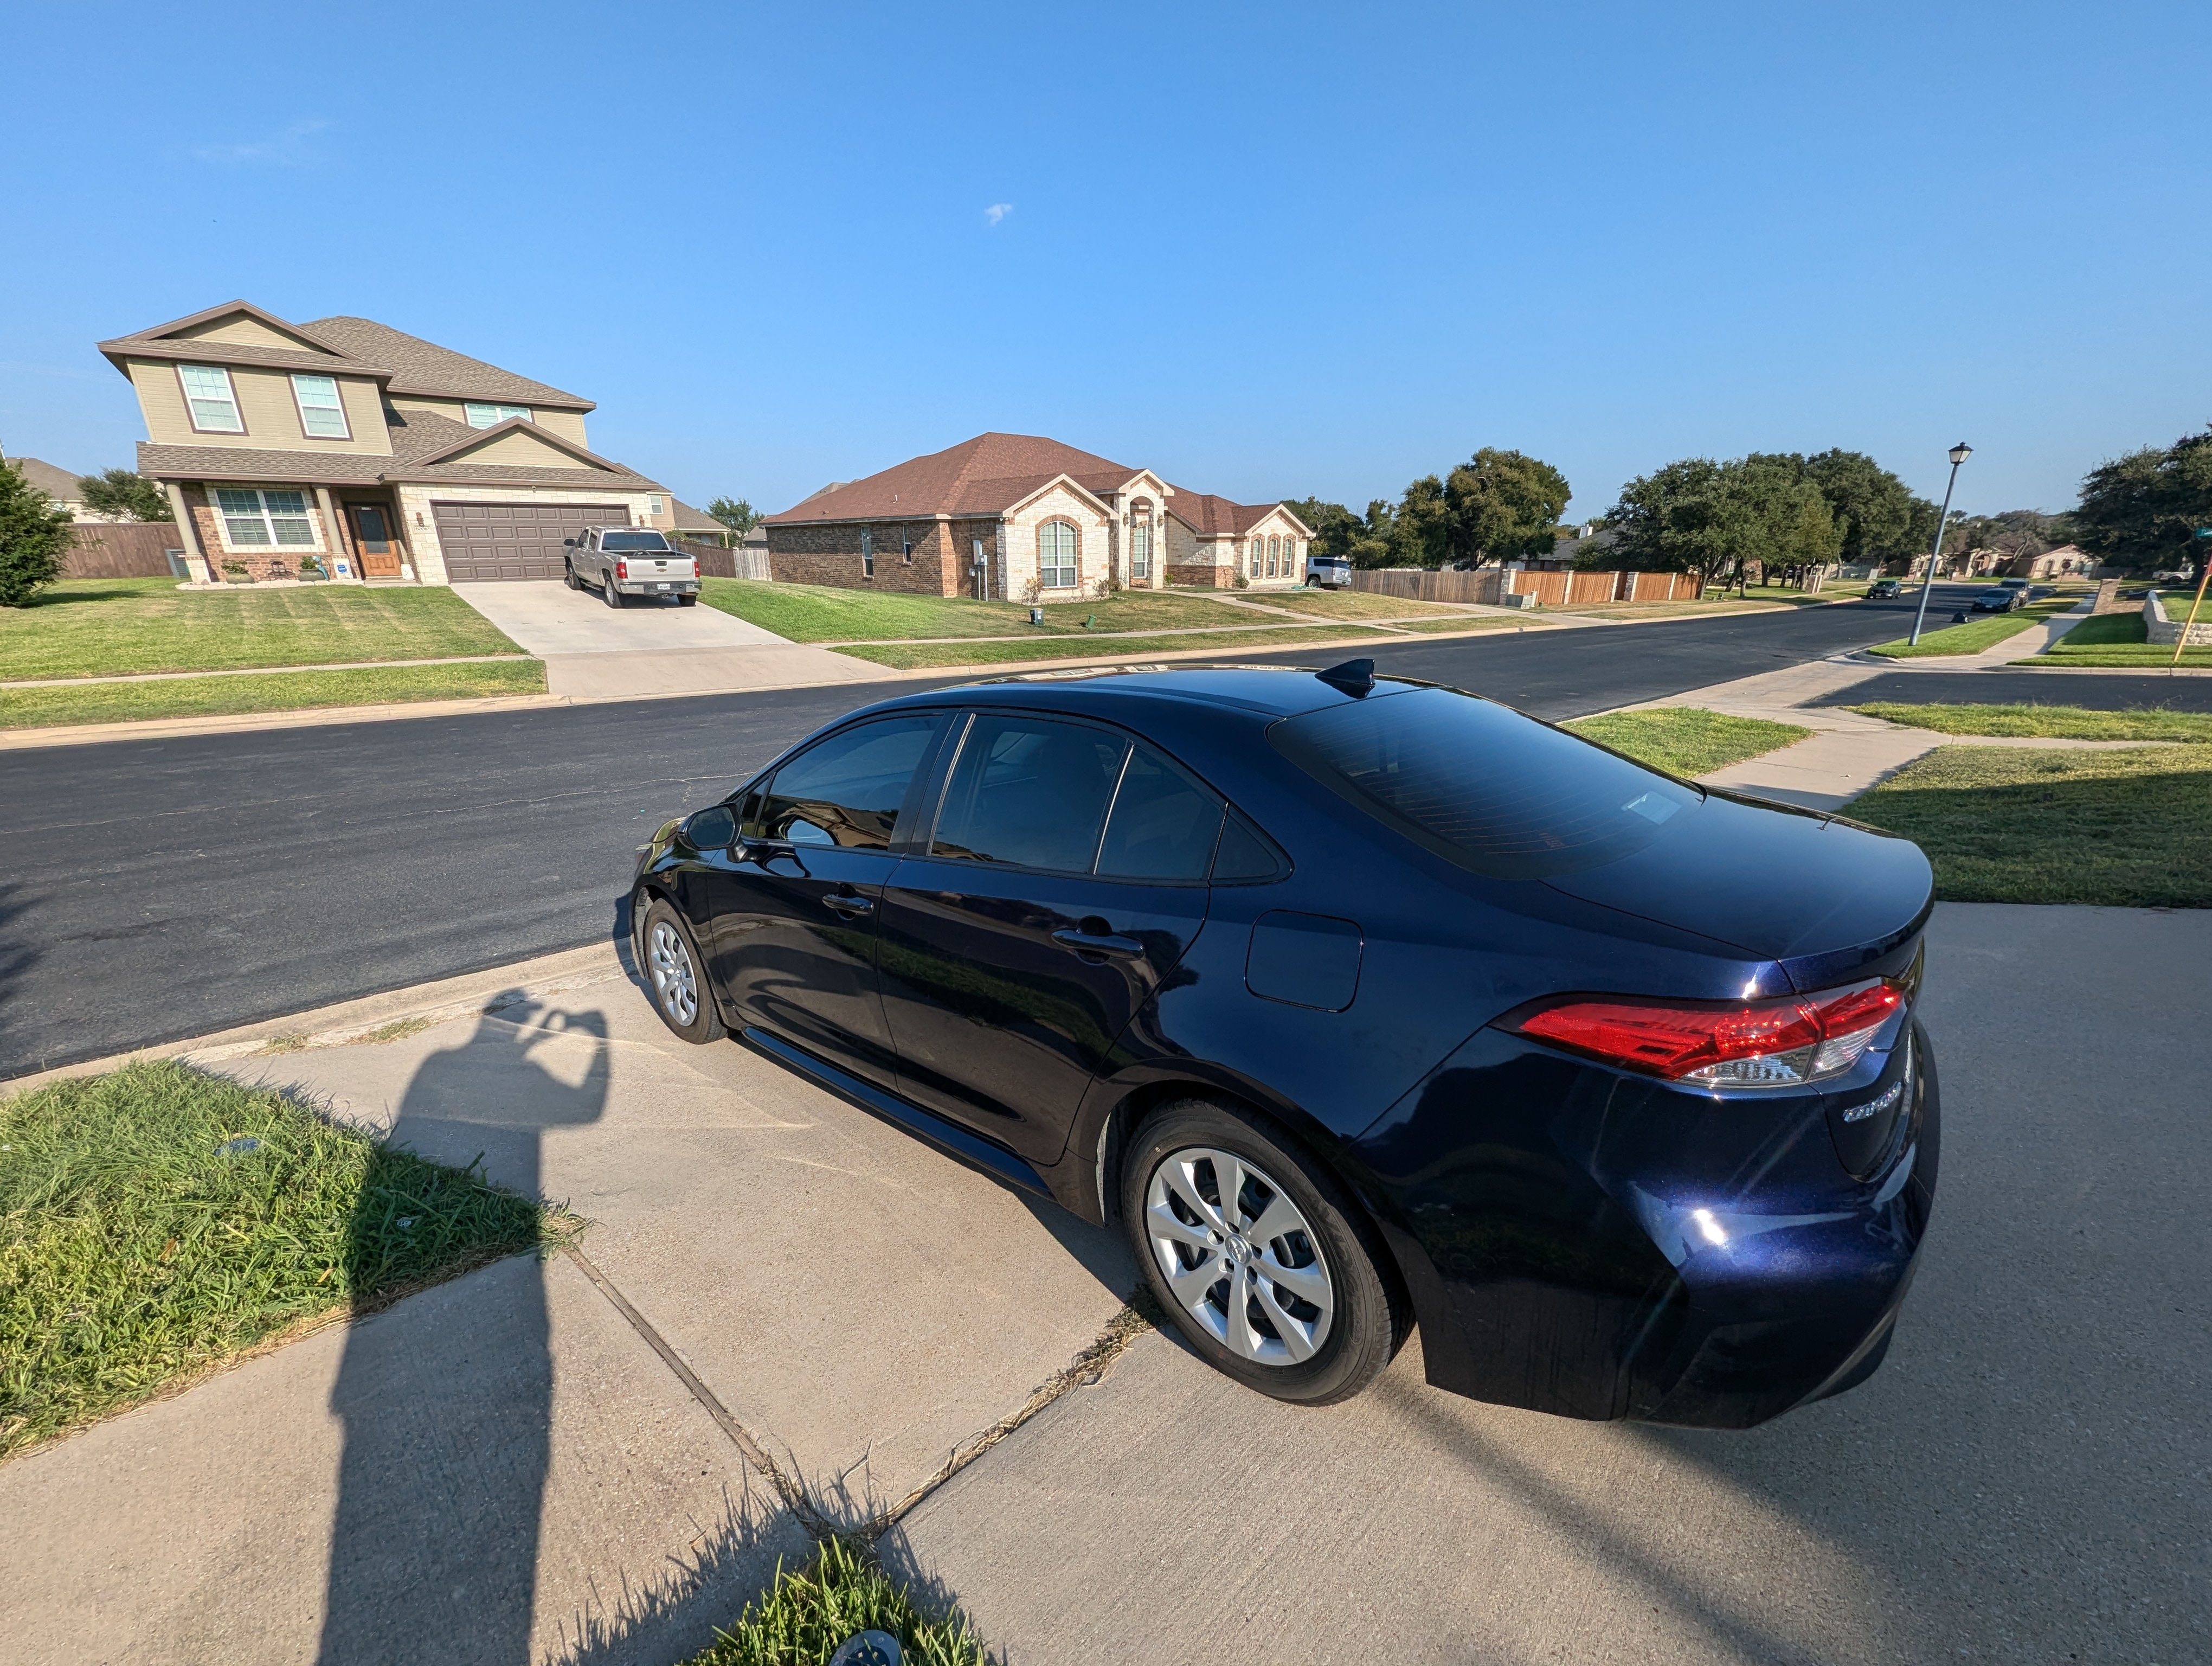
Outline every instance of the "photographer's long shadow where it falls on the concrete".
[[[606, 1108], [606, 1020], [520, 991], [502, 1002], [422, 1060], [389, 1144], [456, 1164], [482, 1153], [491, 1181], [538, 1197], [544, 1133]], [[389, 1190], [385, 1206], [403, 1208]], [[363, 1252], [385, 1228], [354, 1226]], [[356, 1323], [332, 1412], [345, 1456], [321, 1666], [524, 1666], [553, 1425], [544, 1266], [513, 1257]]]

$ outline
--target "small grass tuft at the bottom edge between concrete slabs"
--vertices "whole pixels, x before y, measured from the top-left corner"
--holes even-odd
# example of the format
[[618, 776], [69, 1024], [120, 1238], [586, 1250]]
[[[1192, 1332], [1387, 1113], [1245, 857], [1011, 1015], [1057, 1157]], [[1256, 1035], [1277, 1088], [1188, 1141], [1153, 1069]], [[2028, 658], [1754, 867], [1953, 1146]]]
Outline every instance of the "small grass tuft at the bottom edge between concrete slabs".
[[916, 1597], [843, 1540], [776, 1582], [684, 1666], [818, 1666], [863, 1631], [887, 1631], [914, 1666], [984, 1666], [989, 1655], [953, 1608]]

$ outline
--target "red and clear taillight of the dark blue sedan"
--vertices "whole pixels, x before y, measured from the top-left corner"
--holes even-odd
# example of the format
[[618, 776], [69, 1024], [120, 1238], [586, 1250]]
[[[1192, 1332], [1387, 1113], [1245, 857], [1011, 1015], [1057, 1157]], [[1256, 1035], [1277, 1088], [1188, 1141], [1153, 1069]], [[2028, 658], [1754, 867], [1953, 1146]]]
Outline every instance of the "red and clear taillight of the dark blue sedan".
[[1889, 978], [1734, 1007], [1568, 996], [1504, 1027], [1540, 1042], [1710, 1089], [1783, 1089], [1843, 1075], [1905, 1009]]

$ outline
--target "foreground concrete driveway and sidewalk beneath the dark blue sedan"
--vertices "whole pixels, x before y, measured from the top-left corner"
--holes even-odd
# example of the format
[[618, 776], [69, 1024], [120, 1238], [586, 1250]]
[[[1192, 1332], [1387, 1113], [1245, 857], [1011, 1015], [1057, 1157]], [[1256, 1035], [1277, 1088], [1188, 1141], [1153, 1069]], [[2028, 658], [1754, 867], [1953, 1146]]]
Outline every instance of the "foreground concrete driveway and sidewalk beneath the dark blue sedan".
[[1006, 1662], [2212, 1659], [2208, 965], [2212, 912], [1936, 912], [1942, 1190], [1896, 1345], [1741, 1434], [1462, 1401], [1418, 1339], [1327, 1409], [1161, 1334], [1066, 1372], [1130, 1288], [1115, 1232], [675, 1042], [611, 958], [232, 1058], [571, 1199], [591, 1261], [500, 1263], [0, 1467], [4, 1653], [380, 1659], [414, 1626], [449, 1659], [670, 1662], [807, 1524], [894, 1507], [887, 1562]]

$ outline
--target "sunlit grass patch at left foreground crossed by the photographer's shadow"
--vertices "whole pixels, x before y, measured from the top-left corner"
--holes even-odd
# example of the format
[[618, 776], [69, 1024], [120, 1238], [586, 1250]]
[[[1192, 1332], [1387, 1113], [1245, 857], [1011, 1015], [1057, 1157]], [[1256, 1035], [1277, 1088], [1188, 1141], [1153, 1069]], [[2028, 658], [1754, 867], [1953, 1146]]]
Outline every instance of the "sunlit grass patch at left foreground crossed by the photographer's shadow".
[[173, 1060], [0, 1100], [0, 1456], [577, 1228]]

